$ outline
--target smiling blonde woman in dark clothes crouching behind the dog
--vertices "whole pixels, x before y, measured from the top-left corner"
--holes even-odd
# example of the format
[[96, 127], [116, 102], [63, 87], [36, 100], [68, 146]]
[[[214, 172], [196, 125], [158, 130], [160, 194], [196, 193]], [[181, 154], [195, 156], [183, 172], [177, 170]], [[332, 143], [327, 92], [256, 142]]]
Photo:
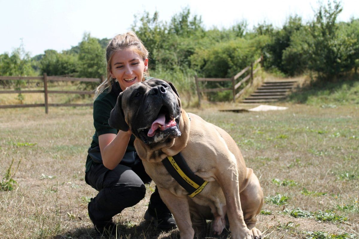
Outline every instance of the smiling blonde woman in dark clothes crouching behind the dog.
[[[136, 154], [131, 131], [123, 132], [108, 125], [117, 96], [148, 76], [148, 51], [134, 32], [116, 35], [106, 48], [107, 79], [97, 87], [93, 107], [95, 134], [88, 150], [85, 180], [99, 191], [88, 204], [95, 229], [103, 234], [116, 233], [112, 217], [126, 207], [136, 205], [145, 196], [146, 174]], [[160, 199], [157, 187], [150, 197], [145, 219], [160, 229], [176, 223]]]

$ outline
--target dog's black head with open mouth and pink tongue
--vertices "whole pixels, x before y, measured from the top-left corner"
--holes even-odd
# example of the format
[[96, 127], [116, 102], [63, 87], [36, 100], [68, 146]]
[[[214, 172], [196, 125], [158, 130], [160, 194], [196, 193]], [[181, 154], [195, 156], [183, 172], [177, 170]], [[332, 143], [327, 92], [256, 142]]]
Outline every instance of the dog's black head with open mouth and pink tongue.
[[131, 129], [145, 144], [181, 136], [181, 101], [171, 82], [156, 78], [135, 83], [120, 93], [108, 120], [112, 128]]

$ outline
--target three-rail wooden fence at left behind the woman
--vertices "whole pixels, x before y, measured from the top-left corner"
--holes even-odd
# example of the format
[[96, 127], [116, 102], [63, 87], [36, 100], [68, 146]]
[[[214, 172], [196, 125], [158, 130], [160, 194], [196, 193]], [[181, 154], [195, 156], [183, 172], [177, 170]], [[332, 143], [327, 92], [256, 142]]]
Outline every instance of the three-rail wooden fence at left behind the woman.
[[44, 83], [43, 90], [2, 90], [0, 94], [14, 94], [14, 93], [43, 93], [45, 96], [44, 104], [19, 104], [19, 105], [0, 105], [1, 108], [22, 108], [22, 107], [45, 107], [45, 113], [48, 114], [49, 106], [92, 106], [92, 103], [88, 104], [49, 104], [48, 103], [48, 94], [80, 94], [80, 95], [92, 95], [94, 91], [56, 91], [48, 90], [47, 85], [48, 81], [81, 81], [81, 82], [103, 82], [103, 77], [101, 78], [75, 78], [75, 77], [61, 77], [61, 76], [47, 76], [46, 73], [43, 76], [31, 76], [31, 77], [22, 77], [22, 76], [0, 76], [0, 81], [3, 80], [39, 80], [42, 79]]

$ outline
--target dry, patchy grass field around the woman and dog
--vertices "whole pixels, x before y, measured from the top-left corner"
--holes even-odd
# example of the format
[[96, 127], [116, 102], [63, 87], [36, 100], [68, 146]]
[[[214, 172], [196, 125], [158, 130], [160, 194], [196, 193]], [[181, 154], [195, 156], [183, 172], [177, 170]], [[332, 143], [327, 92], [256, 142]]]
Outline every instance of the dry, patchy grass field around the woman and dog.
[[[265, 195], [257, 228], [265, 238], [359, 238], [359, 106], [281, 105], [289, 109], [187, 111], [232, 135], [255, 171]], [[49, 112], [0, 110], [0, 238], [96, 238], [87, 214], [96, 191], [84, 181], [92, 109]], [[161, 232], [143, 220], [153, 188], [115, 217], [118, 238], [179, 238], [177, 229]]]

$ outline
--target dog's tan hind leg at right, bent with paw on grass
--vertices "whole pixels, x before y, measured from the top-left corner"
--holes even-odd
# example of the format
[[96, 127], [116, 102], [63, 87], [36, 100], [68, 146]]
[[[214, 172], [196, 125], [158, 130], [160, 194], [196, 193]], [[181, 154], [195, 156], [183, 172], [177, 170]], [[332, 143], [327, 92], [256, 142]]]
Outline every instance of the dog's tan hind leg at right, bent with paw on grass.
[[253, 233], [254, 239], [262, 238], [262, 233], [256, 228], [257, 217], [263, 206], [263, 192], [257, 176], [251, 168], [247, 168], [248, 184], [240, 193], [243, 219], [247, 228]]

